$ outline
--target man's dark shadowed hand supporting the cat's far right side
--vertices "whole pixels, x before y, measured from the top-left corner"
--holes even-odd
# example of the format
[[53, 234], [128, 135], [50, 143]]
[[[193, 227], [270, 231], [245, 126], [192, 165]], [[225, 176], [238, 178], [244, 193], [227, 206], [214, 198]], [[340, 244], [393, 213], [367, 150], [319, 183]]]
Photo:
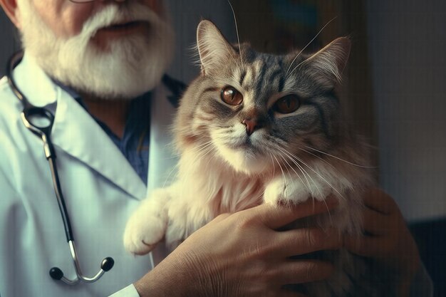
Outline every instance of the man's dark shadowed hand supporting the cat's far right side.
[[370, 189], [363, 197], [363, 236], [345, 236], [346, 249], [373, 258], [397, 277], [399, 296], [409, 296], [410, 282], [420, 268], [417, 244], [392, 197]]

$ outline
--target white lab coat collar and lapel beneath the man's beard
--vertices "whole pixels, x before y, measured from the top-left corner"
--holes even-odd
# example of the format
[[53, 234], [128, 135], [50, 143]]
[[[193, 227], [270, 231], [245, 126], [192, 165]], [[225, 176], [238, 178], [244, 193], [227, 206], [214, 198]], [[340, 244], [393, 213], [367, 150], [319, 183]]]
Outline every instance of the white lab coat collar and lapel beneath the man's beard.
[[14, 78], [33, 105], [57, 103], [51, 131], [56, 148], [83, 162], [131, 197], [145, 198], [145, 184], [118, 147], [71, 95], [53, 83], [31, 56], [25, 54], [14, 71]]

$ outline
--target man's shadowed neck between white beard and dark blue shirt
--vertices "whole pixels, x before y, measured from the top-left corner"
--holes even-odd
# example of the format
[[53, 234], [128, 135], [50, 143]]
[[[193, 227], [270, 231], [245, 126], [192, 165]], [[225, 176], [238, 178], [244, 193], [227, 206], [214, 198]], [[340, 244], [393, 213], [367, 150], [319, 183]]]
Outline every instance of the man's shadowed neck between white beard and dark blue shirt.
[[88, 112], [103, 122], [119, 138], [124, 135], [130, 100], [104, 100], [83, 96]]

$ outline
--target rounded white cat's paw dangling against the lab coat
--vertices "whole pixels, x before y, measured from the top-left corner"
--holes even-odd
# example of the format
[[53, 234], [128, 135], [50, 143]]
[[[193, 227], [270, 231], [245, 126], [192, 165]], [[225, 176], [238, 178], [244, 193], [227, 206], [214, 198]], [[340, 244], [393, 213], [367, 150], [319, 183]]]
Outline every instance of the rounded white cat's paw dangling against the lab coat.
[[166, 223], [155, 216], [135, 213], [125, 226], [124, 247], [136, 255], [145, 255], [155, 249], [166, 231]]

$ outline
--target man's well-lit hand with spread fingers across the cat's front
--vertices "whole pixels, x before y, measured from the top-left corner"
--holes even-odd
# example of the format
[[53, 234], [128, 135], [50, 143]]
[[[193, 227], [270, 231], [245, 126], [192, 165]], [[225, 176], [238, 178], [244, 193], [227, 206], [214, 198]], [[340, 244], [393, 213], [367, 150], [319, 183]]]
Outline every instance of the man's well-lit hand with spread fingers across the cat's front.
[[286, 207], [263, 204], [223, 214], [188, 237], [135, 287], [145, 296], [304, 296], [284, 285], [320, 281], [330, 263], [290, 256], [338, 249], [337, 231], [277, 231], [296, 219], [333, 209], [336, 199]]

